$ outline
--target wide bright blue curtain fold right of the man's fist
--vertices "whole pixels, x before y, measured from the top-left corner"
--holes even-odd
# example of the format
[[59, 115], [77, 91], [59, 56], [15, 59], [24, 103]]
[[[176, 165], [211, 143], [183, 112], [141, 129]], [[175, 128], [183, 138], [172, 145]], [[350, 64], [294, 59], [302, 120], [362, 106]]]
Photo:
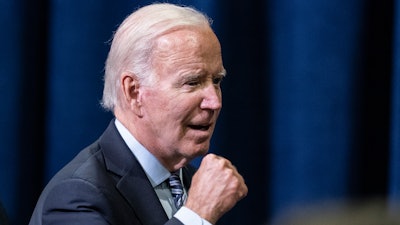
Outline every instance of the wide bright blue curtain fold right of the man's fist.
[[364, 1], [271, 1], [272, 211], [348, 193]]

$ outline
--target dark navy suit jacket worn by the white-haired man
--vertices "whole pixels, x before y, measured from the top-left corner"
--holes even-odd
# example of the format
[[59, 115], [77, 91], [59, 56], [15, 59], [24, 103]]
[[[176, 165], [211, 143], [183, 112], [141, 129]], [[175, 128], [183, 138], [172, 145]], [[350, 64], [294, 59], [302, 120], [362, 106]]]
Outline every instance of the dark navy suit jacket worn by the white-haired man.
[[[183, 169], [187, 187], [195, 172]], [[30, 225], [182, 225], [168, 217], [144, 170], [111, 121], [103, 135], [43, 190]]]

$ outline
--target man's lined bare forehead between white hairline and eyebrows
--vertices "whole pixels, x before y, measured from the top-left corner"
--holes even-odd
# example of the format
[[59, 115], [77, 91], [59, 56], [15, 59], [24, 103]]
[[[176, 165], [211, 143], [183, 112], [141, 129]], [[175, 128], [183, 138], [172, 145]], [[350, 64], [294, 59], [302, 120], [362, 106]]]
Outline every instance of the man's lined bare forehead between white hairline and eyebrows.
[[158, 73], [223, 71], [220, 43], [211, 28], [179, 29], [159, 37], [153, 49]]

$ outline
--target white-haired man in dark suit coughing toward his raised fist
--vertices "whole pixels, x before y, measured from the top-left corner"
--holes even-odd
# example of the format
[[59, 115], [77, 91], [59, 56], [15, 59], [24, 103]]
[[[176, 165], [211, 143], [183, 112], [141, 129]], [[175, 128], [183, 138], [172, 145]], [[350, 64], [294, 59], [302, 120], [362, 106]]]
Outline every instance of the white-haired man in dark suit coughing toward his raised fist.
[[206, 155], [225, 73], [203, 14], [172, 4], [131, 14], [105, 68], [103, 106], [116, 119], [49, 182], [30, 224], [215, 224], [247, 195], [227, 159]]

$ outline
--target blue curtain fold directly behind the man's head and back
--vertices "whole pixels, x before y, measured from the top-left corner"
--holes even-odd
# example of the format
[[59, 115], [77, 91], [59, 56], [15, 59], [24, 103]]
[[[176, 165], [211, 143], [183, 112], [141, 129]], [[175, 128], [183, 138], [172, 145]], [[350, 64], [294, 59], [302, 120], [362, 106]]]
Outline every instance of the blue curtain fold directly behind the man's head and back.
[[134, 7], [128, 2], [51, 2], [46, 181], [107, 126], [110, 115], [100, 100], [108, 42]]

